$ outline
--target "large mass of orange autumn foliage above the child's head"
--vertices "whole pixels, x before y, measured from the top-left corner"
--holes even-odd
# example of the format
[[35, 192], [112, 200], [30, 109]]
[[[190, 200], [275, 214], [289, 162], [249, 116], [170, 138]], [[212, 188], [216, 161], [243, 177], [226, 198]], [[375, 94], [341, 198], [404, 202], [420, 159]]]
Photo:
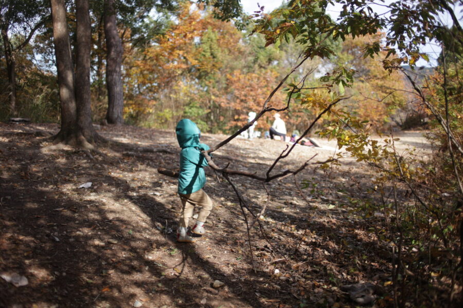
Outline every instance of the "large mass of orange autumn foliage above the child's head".
[[[162, 128], [183, 117], [194, 118], [203, 130], [230, 130], [245, 123], [249, 111], [260, 110], [278, 74], [243, 68], [247, 47], [242, 37], [233, 24], [183, 5], [176, 23], [156, 44], [134, 50], [124, 60], [125, 113], [138, 124]], [[273, 102], [282, 106], [283, 96], [277, 93]], [[259, 126], [268, 124], [259, 121]]]

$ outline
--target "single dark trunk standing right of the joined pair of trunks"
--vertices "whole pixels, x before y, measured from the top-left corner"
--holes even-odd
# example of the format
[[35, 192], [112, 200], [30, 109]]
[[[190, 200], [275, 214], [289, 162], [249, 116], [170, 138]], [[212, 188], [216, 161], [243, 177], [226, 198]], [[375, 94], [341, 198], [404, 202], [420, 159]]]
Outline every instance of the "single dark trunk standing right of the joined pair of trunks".
[[122, 42], [117, 33], [114, 0], [104, 0], [104, 35], [106, 37], [106, 87], [108, 88], [108, 112], [106, 121], [122, 124]]

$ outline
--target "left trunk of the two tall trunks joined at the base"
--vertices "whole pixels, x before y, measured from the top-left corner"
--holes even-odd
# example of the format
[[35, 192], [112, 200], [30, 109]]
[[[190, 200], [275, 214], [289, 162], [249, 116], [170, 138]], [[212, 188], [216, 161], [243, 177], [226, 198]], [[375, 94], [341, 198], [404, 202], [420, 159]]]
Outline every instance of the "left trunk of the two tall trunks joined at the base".
[[76, 133], [76, 96], [74, 90], [74, 71], [67, 31], [66, 8], [64, 0], [50, 0], [55, 43], [58, 85], [60, 88], [61, 129], [56, 142], [67, 142]]

